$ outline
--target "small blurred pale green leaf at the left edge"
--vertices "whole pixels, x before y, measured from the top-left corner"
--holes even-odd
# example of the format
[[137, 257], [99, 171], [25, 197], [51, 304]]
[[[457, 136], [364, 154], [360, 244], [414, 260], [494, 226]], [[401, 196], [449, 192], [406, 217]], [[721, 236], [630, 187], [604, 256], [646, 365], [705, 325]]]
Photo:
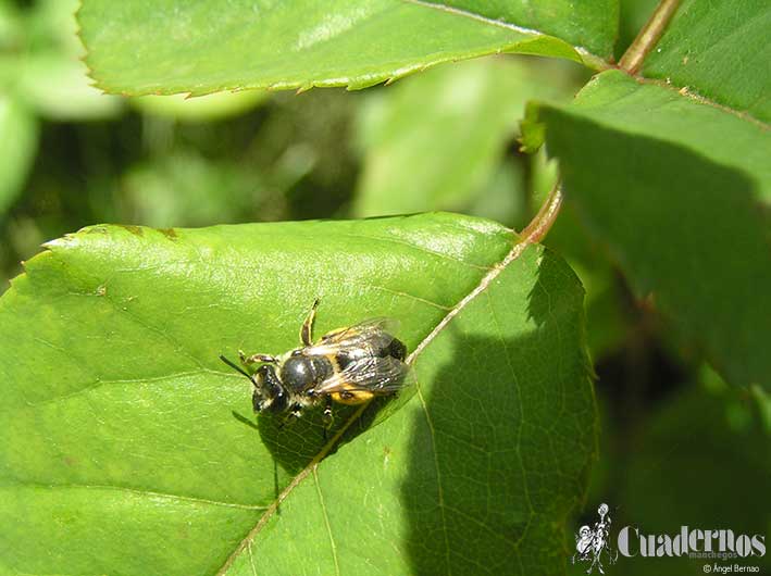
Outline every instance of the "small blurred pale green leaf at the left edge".
[[38, 125], [16, 98], [0, 93], [0, 216], [22, 191], [35, 160]]

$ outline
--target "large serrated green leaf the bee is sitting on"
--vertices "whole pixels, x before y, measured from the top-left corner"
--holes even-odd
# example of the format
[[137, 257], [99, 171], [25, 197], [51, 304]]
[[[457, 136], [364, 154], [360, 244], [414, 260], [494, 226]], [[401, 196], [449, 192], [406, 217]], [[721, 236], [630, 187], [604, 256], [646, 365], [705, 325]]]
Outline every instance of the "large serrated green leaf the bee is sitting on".
[[[561, 573], [595, 449], [583, 291], [515, 241], [437, 213], [49, 243], [0, 299], [0, 566]], [[336, 410], [343, 442], [251, 424], [217, 360], [296, 347], [315, 297], [316, 335], [394, 316], [415, 359], [398, 400]]]

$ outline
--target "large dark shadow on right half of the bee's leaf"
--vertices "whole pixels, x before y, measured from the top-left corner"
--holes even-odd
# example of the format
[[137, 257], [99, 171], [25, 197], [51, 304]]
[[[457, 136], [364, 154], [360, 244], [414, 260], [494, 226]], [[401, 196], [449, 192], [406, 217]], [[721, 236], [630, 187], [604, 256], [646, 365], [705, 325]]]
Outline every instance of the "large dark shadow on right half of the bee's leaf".
[[535, 326], [503, 337], [512, 303], [500, 302], [474, 328], [502, 323], [501, 336], [472, 337], [453, 321], [431, 345], [446, 361], [436, 372], [419, 362], [401, 486], [414, 574], [564, 569], [564, 522], [594, 458], [594, 398], [581, 314], [544, 272], [527, 302]]

